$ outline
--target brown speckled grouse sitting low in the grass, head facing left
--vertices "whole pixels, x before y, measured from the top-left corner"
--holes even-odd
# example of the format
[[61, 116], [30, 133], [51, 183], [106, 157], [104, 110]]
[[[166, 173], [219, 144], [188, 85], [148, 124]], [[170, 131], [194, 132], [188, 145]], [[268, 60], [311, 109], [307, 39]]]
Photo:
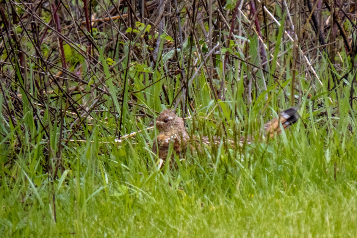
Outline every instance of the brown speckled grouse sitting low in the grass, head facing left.
[[[280, 113], [277, 118], [265, 123], [264, 131], [265, 135], [273, 137], [281, 133], [281, 128], [284, 130], [295, 123], [299, 115], [297, 113], [298, 107], [291, 107]], [[169, 152], [170, 145], [172, 143], [173, 150], [182, 157], [186, 152], [187, 146], [192, 147], [192, 143], [196, 143], [197, 138], [191, 138], [185, 128], [185, 123], [182, 118], [178, 117], [174, 110], [166, 109], [160, 113], [156, 118], [156, 128], [160, 134], [155, 138], [152, 145], [152, 152], [157, 154], [160, 159], [166, 159]], [[280, 126], [282, 124], [282, 127]], [[149, 126], [154, 126], [154, 121], [150, 122]], [[201, 138], [202, 143], [210, 144], [208, 137]], [[219, 137], [213, 137], [213, 143], [220, 143]], [[243, 143], [251, 144], [252, 138], [250, 136], [240, 137], [239, 144]], [[234, 141], [229, 140], [229, 143], [234, 146]], [[174, 155], [172, 155], [174, 156]]]

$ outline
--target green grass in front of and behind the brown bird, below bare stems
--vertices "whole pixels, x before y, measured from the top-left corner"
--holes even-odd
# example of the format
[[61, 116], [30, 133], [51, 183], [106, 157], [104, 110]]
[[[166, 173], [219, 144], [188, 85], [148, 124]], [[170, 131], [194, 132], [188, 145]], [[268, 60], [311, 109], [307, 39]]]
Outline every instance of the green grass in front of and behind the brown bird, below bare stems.
[[[227, 88], [231, 100], [220, 102], [219, 112], [217, 103], [202, 96], [210, 95], [205, 82], [197, 77], [195, 86], [202, 93], [194, 95], [197, 112], [187, 120], [188, 131], [196, 135], [222, 135], [222, 123], [228, 137], [256, 135], [271, 118], [266, 112], [275, 115], [272, 107], [285, 103], [277, 91], [277, 96], [271, 94], [271, 107], [257, 116], [266, 104], [246, 105], [239, 83], [232, 83]], [[338, 92], [346, 95], [349, 88], [339, 86]], [[355, 128], [356, 120], [348, 97], [332, 99], [338, 113], [325, 108], [334, 117], [320, 116], [321, 110], [313, 111], [305, 97], [302, 119], [282, 135], [237, 151], [207, 147], [202, 155], [188, 154], [177, 169], [166, 165], [161, 170], [147, 144], [154, 132], [115, 143], [108, 133], [115, 130], [115, 121], [103, 113], [96, 125], [88, 123], [88, 142], [64, 147], [53, 183], [45, 170], [54, 163], [45, 159], [46, 144], [37, 137], [23, 141], [17, 152], [15, 132], [22, 131], [13, 128], [3, 139], [12, 143], [1, 145], [0, 236], [355, 237], [357, 141], [349, 128]], [[330, 99], [326, 96], [323, 102], [328, 105]], [[128, 132], [145, 128], [151, 120], [136, 118], [134, 110], [128, 113]], [[202, 118], [207, 115], [212, 121]], [[42, 137], [30, 118], [24, 117], [24, 125]], [[4, 133], [6, 125], [2, 128]], [[52, 140], [57, 140], [59, 127], [51, 130]], [[55, 148], [57, 142], [52, 143]], [[14, 153], [17, 159], [6, 163]]]

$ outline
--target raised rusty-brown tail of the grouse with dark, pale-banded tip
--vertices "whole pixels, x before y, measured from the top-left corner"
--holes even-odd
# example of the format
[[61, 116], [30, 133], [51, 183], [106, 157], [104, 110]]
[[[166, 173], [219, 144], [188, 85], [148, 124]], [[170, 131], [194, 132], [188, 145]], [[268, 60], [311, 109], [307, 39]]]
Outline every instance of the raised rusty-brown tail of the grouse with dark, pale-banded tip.
[[[298, 107], [290, 107], [285, 111], [282, 111], [278, 117], [274, 118], [273, 120], [265, 123], [264, 130], [266, 135], [270, 137], [274, 137], [281, 133], [281, 128], [286, 130], [292, 124], [297, 122], [300, 118], [299, 114], [297, 113]], [[282, 127], [280, 126], [282, 124]]]

